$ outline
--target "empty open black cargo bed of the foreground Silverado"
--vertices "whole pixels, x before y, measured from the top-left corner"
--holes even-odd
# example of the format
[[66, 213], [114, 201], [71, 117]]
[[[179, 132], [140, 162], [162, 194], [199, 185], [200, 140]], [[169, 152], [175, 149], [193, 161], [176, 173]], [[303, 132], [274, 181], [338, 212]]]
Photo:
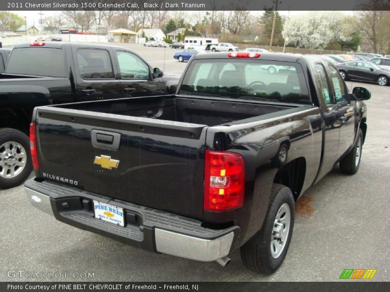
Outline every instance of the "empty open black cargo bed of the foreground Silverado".
[[56, 107], [210, 127], [294, 108], [291, 104], [251, 103], [233, 99], [224, 101], [213, 98], [189, 98], [175, 95], [82, 102]]

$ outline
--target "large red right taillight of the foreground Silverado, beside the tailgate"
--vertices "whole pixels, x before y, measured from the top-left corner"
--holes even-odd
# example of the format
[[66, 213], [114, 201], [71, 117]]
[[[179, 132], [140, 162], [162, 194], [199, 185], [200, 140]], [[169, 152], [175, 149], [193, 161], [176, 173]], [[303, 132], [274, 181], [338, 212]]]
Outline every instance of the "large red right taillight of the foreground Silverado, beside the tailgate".
[[228, 211], [244, 203], [245, 171], [241, 155], [206, 150], [204, 203], [207, 211]]

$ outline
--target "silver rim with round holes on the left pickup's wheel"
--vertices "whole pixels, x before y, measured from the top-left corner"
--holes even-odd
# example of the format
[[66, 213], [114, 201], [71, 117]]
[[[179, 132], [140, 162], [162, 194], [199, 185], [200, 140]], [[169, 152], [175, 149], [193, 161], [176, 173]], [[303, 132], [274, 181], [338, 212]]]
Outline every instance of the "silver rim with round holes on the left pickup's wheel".
[[26, 166], [27, 152], [18, 142], [9, 141], [0, 146], [0, 177], [18, 176]]

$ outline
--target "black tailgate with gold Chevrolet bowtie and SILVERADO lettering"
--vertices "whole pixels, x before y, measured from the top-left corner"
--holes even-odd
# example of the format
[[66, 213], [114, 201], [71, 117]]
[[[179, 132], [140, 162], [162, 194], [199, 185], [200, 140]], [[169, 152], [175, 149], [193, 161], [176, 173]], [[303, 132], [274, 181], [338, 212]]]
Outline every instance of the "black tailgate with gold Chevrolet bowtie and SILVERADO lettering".
[[40, 107], [40, 177], [202, 219], [206, 125]]

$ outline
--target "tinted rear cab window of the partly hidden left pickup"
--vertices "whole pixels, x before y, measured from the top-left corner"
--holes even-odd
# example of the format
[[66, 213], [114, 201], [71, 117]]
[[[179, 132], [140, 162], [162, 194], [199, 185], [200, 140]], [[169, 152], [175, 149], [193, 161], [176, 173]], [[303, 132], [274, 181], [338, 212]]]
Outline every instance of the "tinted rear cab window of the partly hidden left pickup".
[[8, 59], [6, 73], [65, 77], [64, 53], [61, 49], [16, 48]]

